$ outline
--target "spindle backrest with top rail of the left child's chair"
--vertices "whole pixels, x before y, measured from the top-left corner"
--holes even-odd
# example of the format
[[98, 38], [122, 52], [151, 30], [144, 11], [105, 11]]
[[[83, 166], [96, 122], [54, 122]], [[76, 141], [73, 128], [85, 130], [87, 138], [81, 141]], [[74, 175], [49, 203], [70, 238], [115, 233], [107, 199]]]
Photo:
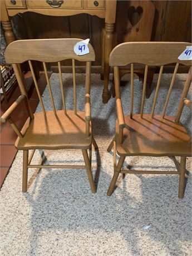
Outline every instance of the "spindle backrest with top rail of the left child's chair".
[[[85, 81], [85, 94], [90, 94], [90, 76], [91, 76], [91, 61], [95, 61], [95, 52], [93, 47], [88, 44], [89, 53], [86, 55], [78, 56], [73, 51], [73, 47], [77, 42], [82, 41], [77, 38], [65, 38], [65, 39], [43, 39], [43, 40], [19, 40], [14, 41], [8, 45], [5, 52], [5, 57], [7, 63], [12, 63], [14, 72], [16, 73], [17, 81], [21, 94], [27, 97], [27, 92], [23, 86], [22, 75], [19, 72], [18, 65], [28, 61], [29, 67], [31, 69], [33, 81], [37, 90], [38, 98], [42, 107], [43, 114], [46, 116], [45, 107], [43, 105], [43, 100], [41, 98], [40, 90], [38, 88], [38, 83], [35, 77], [35, 71], [31, 61], [40, 61], [43, 63], [43, 68], [45, 71], [45, 76], [47, 80], [47, 86], [50, 93], [51, 105], [54, 113], [56, 114], [55, 103], [53, 99], [53, 93], [51, 90], [50, 80], [47, 73], [46, 62], [58, 62], [58, 71], [60, 77], [60, 90], [62, 95], [63, 110], [67, 114], [66, 102], [65, 102], [65, 92], [63, 90], [63, 81], [61, 73], [61, 61], [72, 60], [72, 72], [73, 72], [73, 102], [74, 102], [74, 112], [76, 114], [76, 73], [75, 73], [75, 60], [86, 62], [86, 81]], [[32, 116], [31, 116], [32, 117]]]

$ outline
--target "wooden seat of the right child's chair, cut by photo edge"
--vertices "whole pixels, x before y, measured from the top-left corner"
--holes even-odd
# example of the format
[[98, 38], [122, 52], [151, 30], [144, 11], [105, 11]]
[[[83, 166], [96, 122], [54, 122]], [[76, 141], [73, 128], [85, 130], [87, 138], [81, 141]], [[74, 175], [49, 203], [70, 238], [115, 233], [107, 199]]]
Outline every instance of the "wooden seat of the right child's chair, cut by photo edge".
[[[150, 114], [125, 116], [122, 144], [119, 143], [119, 123], [116, 121], [117, 153], [122, 156], [191, 156], [191, 136], [174, 117]], [[182, 150], [181, 150], [182, 149]]]

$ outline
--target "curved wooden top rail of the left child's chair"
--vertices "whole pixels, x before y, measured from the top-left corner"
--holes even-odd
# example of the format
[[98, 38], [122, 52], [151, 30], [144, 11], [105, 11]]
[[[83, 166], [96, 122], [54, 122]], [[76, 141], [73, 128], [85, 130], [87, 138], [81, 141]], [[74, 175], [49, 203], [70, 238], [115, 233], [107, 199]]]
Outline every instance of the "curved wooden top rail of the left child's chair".
[[76, 55], [73, 47], [80, 41], [82, 39], [78, 38], [18, 40], [7, 46], [5, 58], [7, 63], [23, 63], [28, 60], [58, 62], [71, 58], [78, 61], [95, 61], [95, 52], [90, 43], [89, 53]]

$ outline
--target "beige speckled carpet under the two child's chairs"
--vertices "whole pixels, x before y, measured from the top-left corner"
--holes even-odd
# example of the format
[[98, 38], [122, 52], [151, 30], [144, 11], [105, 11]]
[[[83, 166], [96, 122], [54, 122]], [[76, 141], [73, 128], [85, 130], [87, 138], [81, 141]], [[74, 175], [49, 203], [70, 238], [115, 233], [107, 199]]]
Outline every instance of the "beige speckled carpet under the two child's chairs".
[[[64, 75], [65, 92], [72, 96], [71, 75]], [[173, 114], [186, 75], [180, 74], [171, 95], [168, 114]], [[82, 86], [85, 76], [77, 75], [78, 108], [83, 109]], [[155, 76], [154, 82], [157, 77]], [[161, 82], [156, 111], [164, 106], [166, 83]], [[52, 74], [51, 85], [57, 108], [62, 105], [57, 87], [58, 75]], [[92, 194], [85, 170], [29, 169], [28, 192], [21, 192], [22, 152], [18, 152], [1, 191], [1, 255], [191, 255], [192, 254], [192, 179], [191, 159], [185, 198], [178, 199], [176, 175], [126, 175], [117, 180], [111, 197], [106, 195], [113, 174], [112, 152], [106, 151], [114, 136], [115, 99], [101, 102], [102, 81], [91, 76], [93, 134], [99, 151], [93, 151], [93, 175], [97, 193]], [[134, 102], [141, 99], [142, 83], [135, 80]], [[130, 86], [121, 88], [126, 111]], [[150, 111], [151, 98], [145, 101]], [[72, 99], [72, 97], [71, 97]], [[46, 107], [50, 103], [47, 88], [43, 93]], [[72, 101], [67, 106], [72, 108]], [[37, 111], [40, 110], [40, 107]], [[139, 107], [135, 107], [139, 111]], [[191, 115], [184, 109], [183, 124], [191, 129]], [[81, 151], [36, 151], [33, 163], [61, 164], [71, 160], [82, 163]], [[127, 157], [125, 167], [173, 170], [168, 157]], [[148, 226], [148, 227], [146, 227]], [[148, 229], [147, 229], [148, 228]]]

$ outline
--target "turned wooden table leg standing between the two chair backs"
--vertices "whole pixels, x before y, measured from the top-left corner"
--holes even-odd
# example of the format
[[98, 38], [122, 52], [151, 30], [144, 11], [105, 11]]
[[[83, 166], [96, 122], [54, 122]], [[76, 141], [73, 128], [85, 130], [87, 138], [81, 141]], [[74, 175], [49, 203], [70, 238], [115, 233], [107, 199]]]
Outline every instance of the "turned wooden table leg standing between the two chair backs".
[[102, 92], [103, 103], [107, 103], [111, 97], [108, 90], [108, 84], [110, 75], [109, 56], [112, 50], [113, 32], [114, 24], [105, 23], [104, 90]]

